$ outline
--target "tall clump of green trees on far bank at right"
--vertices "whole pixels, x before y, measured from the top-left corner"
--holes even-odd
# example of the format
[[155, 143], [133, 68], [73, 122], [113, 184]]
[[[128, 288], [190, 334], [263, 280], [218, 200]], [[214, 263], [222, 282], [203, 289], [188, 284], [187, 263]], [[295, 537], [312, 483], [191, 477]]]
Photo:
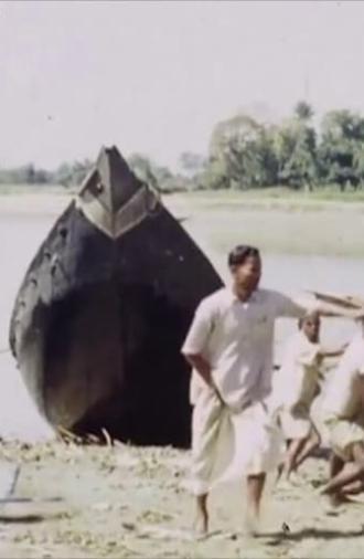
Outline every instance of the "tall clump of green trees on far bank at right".
[[211, 189], [362, 188], [364, 118], [347, 109], [331, 110], [317, 129], [312, 116], [312, 107], [299, 102], [291, 118], [279, 125], [263, 125], [248, 115], [220, 123], [201, 180]]

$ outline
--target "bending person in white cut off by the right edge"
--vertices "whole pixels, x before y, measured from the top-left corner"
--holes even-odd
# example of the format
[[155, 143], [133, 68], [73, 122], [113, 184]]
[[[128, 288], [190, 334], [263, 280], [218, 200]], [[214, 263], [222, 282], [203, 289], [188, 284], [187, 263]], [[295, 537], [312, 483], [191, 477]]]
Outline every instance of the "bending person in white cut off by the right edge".
[[331, 479], [321, 491], [339, 504], [364, 489], [364, 331], [343, 355], [321, 403], [321, 420], [333, 451]]

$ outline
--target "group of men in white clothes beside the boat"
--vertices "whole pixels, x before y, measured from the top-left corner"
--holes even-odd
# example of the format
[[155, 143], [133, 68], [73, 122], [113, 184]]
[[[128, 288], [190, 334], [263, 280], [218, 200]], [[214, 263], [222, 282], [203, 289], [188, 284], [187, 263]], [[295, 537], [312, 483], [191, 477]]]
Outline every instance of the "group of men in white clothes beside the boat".
[[[320, 444], [310, 408], [325, 357], [343, 354], [320, 407], [333, 451], [331, 478], [321, 493], [340, 502], [361, 492], [364, 483], [364, 310], [312, 305], [260, 288], [261, 259], [253, 246], [232, 250], [228, 267], [232, 285], [200, 303], [182, 348], [193, 368], [189, 486], [196, 497], [200, 534], [208, 530], [211, 489], [238, 477], [246, 479], [247, 527], [256, 532], [267, 474], [276, 471], [289, 478]], [[353, 318], [358, 333], [347, 347], [325, 351], [319, 340], [320, 316]], [[274, 377], [279, 317], [297, 318], [299, 329]]]

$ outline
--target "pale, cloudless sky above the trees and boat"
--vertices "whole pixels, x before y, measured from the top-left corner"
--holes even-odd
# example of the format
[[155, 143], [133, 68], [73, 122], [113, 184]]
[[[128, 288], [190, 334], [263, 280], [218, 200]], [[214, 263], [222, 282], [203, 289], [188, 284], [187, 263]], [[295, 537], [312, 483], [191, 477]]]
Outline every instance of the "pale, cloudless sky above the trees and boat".
[[1, 2], [0, 167], [174, 166], [246, 107], [364, 113], [362, 2]]

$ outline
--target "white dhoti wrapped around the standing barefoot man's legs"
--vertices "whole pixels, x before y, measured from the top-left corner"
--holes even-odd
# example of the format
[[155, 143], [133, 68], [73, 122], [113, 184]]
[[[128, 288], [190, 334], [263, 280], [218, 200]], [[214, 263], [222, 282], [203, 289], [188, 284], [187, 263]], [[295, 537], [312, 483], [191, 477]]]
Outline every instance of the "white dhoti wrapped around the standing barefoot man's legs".
[[283, 437], [264, 402], [239, 412], [213, 391], [200, 393], [193, 411], [189, 489], [208, 493], [221, 483], [275, 470], [283, 455]]

